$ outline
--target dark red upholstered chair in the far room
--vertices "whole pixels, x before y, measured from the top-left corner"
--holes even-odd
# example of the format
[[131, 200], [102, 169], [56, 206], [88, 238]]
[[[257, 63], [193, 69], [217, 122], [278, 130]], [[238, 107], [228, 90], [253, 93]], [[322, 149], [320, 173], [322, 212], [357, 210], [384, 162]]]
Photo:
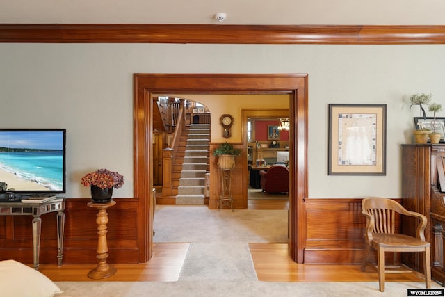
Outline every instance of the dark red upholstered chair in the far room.
[[271, 166], [267, 171], [260, 170], [261, 190], [267, 193], [289, 193], [289, 169], [284, 166]]

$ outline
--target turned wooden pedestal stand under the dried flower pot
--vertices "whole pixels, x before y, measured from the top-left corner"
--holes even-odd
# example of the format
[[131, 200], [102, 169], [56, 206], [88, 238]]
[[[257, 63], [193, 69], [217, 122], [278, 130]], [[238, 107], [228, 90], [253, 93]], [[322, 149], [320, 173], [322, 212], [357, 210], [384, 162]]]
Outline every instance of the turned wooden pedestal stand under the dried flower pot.
[[99, 280], [101, 278], [109, 278], [116, 273], [116, 268], [109, 266], [106, 263], [106, 258], [108, 258], [108, 245], [106, 243], [106, 224], [108, 223], [108, 214], [106, 213], [106, 209], [112, 207], [114, 204], [116, 204], [116, 202], [113, 200], [107, 203], [88, 202], [89, 207], [99, 209], [96, 218], [97, 234], [99, 234], [96, 257], [99, 259], [99, 264], [88, 273], [88, 278]]

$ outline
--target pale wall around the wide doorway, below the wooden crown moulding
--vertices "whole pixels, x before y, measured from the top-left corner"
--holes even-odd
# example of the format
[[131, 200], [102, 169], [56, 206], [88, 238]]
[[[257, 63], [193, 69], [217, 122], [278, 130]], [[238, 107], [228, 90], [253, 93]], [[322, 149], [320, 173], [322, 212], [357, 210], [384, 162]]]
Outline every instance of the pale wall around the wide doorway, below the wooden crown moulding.
[[[67, 129], [67, 197], [89, 197], [97, 168], [132, 197], [133, 73], [309, 74], [309, 198], [400, 197], [407, 97], [445, 103], [445, 45], [0, 44], [0, 127]], [[387, 104], [386, 176], [327, 175], [330, 103]]]

